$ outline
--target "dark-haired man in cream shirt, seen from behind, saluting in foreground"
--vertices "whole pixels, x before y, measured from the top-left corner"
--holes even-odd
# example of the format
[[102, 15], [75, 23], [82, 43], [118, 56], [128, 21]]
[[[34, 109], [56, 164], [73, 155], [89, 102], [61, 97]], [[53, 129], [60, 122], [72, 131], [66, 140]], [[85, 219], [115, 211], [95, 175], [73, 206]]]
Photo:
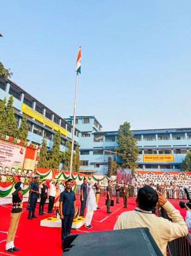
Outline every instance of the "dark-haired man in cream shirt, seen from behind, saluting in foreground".
[[[172, 222], [152, 214], [157, 202], [166, 210]], [[180, 212], [159, 191], [144, 186], [138, 191], [136, 204], [136, 209], [118, 217], [114, 229], [148, 228], [163, 255], [166, 255], [169, 241], [187, 235], [188, 229]]]

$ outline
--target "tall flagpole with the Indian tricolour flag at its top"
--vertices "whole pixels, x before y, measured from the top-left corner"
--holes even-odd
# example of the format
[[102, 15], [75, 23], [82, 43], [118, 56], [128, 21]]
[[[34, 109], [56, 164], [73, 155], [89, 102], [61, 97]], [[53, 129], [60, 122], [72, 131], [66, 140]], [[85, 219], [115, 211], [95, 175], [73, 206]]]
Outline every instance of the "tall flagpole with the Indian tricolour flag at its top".
[[73, 151], [74, 151], [78, 73], [81, 74], [81, 46], [80, 45], [78, 46], [78, 56], [77, 56], [75, 71], [76, 71], [76, 91], [75, 91], [75, 101], [74, 101], [74, 117], [73, 117], [73, 131], [72, 131], [72, 144], [71, 144], [71, 157], [70, 157], [70, 179], [72, 175], [72, 160], [73, 160]]

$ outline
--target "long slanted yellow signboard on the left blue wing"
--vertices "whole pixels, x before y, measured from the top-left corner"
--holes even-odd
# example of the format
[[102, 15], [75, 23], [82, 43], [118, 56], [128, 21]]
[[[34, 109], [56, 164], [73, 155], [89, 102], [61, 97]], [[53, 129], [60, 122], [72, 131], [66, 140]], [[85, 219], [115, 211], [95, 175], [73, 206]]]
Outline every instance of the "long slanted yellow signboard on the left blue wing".
[[25, 113], [26, 115], [30, 115], [30, 116], [32, 116], [32, 118], [35, 118], [36, 120], [38, 120], [38, 121], [44, 123], [45, 125], [53, 128], [55, 131], [60, 130], [60, 132], [63, 135], [67, 136], [68, 132], [67, 132], [66, 129], [62, 128], [57, 123], [51, 121], [50, 119], [48, 119], [44, 115], [41, 115], [36, 110], [30, 108], [29, 106], [25, 105], [24, 103], [22, 103], [21, 111], [23, 111], [23, 113]]

